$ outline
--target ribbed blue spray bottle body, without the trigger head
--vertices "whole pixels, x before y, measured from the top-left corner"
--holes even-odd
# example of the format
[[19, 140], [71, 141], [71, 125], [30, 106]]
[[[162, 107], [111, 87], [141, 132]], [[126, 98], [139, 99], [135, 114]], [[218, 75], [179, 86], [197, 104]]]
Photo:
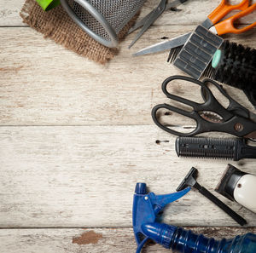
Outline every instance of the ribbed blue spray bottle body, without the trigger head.
[[255, 253], [256, 234], [246, 233], [233, 239], [208, 239], [183, 227], [165, 223], [143, 225], [143, 233], [154, 242], [180, 253]]

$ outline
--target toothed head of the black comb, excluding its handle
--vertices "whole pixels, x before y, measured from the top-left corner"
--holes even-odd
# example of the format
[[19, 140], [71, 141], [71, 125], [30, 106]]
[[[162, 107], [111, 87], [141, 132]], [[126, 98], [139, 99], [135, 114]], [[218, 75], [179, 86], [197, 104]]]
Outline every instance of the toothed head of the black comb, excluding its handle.
[[235, 160], [236, 139], [177, 137], [178, 157], [224, 158]]

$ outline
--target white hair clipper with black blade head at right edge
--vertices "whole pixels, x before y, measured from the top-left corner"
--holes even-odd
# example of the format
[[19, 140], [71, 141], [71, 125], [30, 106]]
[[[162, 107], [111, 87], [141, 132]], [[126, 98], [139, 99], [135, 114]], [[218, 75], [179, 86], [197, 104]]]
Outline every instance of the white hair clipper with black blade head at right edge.
[[256, 175], [228, 164], [215, 191], [256, 213]]

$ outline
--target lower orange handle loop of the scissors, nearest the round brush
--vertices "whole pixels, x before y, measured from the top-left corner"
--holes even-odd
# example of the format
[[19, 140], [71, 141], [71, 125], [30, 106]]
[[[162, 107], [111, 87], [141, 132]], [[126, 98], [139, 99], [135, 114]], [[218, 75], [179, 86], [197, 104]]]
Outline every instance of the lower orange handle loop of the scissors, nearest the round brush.
[[248, 30], [252, 29], [253, 27], [256, 26], [256, 21], [248, 26], [245, 26], [241, 29], [238, 29], [234, 26], [234, 21], [240, 19], [241, 17], [246, 16], [247, 14], [250, 14], [253, 12], [253, 10], [256, 9], [256, 3], [251, 5], [249, 8], [239, 12], [238, 14], [230, 17], [227, 20], [224, 20], [217, 25], [215, 25], [215, 29], [218, 33], [218, 35], [222, 35], [225, 33], [241, 33], [241, 32], [247, 32]]

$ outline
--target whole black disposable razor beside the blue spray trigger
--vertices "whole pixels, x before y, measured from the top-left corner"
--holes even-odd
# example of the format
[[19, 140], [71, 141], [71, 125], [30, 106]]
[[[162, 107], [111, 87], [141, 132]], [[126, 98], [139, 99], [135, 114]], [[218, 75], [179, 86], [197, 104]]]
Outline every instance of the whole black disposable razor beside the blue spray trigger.
[[189, 173], [185, 176], [183, 181], [177, 187], [176, 191], [182, 191], [187, 187], [193, 187], [198, 190], [203, 196], [207, 197], [212, 203], [218, 205], [221, 210], [224, 210], [226, 214], [228, 214], [232, 219], [234, 219], [241, 226], [247, 224], [247, 221], [243, 219], [241, 216], [236, 214], [235, 211], [231, 210], [226, 204], [216, 198], [212, 193], [210, 193], [205, 187], [201, 187], [201, 185], [196, 181], [196, 177], [198, 175], [198, 170], [194, 167], [189, 170]]

